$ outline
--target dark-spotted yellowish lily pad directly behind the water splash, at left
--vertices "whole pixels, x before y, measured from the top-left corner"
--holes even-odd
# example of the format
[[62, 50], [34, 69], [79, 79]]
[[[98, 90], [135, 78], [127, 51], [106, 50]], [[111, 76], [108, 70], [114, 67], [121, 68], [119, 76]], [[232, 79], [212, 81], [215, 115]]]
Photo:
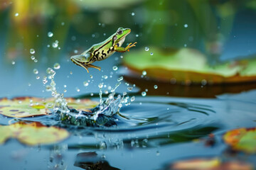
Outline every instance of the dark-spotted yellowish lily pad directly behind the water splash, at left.
[[[90, 99], [66, 98], [68, 101], [68, 107], [76, 108], [78, 110], [86, 111], [88, 108], [94, 108], [97, 106], [97, 102], [90, 101]], [[54, 98], [32, 98], [21, 97], [13, 98], [11, 100], [7, 98], [0, 99], [0, 114], [6, 115], [12, 118], [26, 118], [36, 115], [48, 115], [53, 108]]]

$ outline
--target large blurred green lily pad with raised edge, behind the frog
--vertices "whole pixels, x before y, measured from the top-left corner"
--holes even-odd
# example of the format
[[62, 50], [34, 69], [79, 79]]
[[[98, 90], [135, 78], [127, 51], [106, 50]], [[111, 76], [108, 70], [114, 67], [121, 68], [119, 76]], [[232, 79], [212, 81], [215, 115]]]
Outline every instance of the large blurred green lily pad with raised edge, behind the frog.
[[[150, 55], [151, 52], [154, 55]], [[220, 84], [256, 80], [256, 60], [210, 67], [206, 56], [188, 48], [175, 52], [164, 52], [154, 47], [149, 51], [134, 51], [124, 57], [124, 64], [138, 74], [145, 70], [146, 76], [168, 82]]]

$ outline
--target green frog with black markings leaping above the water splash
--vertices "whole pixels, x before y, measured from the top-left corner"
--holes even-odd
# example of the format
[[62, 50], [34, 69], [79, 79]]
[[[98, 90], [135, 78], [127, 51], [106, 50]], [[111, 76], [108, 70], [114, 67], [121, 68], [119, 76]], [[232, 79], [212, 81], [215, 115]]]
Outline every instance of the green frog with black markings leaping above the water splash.
[[131, 33], [130, 28], [118, 28], [117, 31], [111, 35], [107, 40], [98, 44], [92, 45], [88, 50], [82, 52], [80, 55], [73, 55], [70, 60], [80, 67], [83, 67], [89, 73], [88, 68], [101, 69], [93, 65], [93, 62], [102, 61], [114, 54], [114, 52], [129, 52], [131, 47], [135, 47], [137, 42], [129, 43], [127, 47], [122, 47], [125, 37]]

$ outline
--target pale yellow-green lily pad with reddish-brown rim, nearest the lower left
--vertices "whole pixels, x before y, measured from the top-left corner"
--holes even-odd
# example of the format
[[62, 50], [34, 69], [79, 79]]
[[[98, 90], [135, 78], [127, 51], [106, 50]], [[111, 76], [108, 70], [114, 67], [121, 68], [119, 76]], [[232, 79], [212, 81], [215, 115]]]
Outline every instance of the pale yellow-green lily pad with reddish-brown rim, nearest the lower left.
[[0, 144], [9, 138], [16, 138], [26, 145], [50, 144], [64, 140], [68, 136], [69, 132], [65, 129], [47, 127], [38, 122], [0, 125]]

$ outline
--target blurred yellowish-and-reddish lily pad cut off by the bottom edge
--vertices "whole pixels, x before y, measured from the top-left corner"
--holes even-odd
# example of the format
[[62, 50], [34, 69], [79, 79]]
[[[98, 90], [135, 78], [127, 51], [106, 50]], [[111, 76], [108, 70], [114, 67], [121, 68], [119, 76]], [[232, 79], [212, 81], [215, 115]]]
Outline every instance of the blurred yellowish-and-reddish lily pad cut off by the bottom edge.
[[185, 169], [205, 169], [205, 170], [220, 170], [220, 169], [243, 169], [252, 170], [252, 165], [245, 162], [221, 162], [218, 158], [210, 159], [189, 159], [175, 162], [171, 164], [169, 169], [185, 170]]

